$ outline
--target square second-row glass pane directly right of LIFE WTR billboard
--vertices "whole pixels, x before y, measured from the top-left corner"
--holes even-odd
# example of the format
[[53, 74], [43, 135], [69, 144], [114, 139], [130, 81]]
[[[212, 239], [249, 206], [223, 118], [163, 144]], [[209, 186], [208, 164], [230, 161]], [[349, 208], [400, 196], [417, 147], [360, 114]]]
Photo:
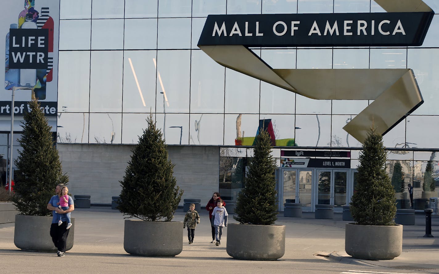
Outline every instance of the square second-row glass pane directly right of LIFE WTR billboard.
[[60, 50], [90, 50], [91, 20], [61, 20], [59, 22]]

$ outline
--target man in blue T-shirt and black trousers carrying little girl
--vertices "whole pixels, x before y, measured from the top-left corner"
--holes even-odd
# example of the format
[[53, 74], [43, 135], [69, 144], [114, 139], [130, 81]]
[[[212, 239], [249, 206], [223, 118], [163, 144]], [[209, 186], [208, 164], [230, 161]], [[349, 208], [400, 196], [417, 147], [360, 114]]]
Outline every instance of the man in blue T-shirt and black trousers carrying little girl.
[[61, 189], [64, 185], [58, 184], [55, 188], [55, 194], [50, 198], [49, 203], [47, 204], [47, 209], [52, 210], [52, 224], [50, 225], [50, 237], [52, 237], [52, 242], [54, 242], [55, 247], [58, 249], [58, 257], [64, 257], [65, 255], [65, 247], [67, 245], [67, 237], [68, 232], [67, 229], [67, 219], [66, 217], [61, 217], [62, 224], [58, 225], [58, 215], [59, 214], [70, 214], [73, 210], [75, 210], [75, 205], [73, 204], [73, 199], [71, 196], [68, 196], [68, 209], [63, 210], [58, 208], [59, 203], [59, 194], [61, 193]]

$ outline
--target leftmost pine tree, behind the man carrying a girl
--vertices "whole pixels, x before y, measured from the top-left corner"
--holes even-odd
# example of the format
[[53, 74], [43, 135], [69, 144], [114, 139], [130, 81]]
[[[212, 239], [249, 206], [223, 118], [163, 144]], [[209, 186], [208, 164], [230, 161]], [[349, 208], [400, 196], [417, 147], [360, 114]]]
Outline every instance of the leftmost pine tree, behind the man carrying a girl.
[[52, 139], [52, 128], [47, 124], [40, 103], [32, 93], [31, 110], [24, 115], [22, 137], [14, 172], [14, 204], [22, 215], [50, 216], [47, 203], [54, 195], [57, 184], [67, 184], [62, 173], [58, 149]]

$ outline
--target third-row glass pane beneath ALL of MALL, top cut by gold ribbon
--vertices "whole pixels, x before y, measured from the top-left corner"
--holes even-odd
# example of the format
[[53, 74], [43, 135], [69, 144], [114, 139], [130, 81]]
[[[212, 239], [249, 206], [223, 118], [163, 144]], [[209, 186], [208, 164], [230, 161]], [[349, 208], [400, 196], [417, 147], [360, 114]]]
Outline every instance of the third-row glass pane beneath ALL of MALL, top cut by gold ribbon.
[[259, 82], [226, 68], [226, 113], [259, 113]]

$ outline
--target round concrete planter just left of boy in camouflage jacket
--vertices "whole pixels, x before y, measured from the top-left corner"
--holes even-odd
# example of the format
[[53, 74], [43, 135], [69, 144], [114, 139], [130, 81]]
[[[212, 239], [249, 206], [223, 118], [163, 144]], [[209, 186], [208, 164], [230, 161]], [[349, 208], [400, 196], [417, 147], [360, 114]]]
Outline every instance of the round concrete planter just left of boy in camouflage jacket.
[[125, 220], [123, 249], [136, 256], [173, 257], [183, 251], [183, 222]]

